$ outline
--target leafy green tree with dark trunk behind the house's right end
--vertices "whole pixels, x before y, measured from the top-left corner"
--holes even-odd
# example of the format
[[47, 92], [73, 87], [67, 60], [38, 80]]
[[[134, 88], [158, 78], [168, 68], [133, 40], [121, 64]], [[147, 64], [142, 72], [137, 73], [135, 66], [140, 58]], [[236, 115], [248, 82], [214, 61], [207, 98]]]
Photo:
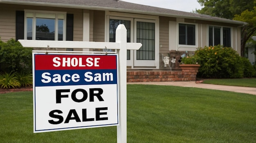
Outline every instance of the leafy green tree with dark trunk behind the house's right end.
[[247, 22], [242, 29], [241, 56], [244, 56], [245, 43], [256, 30], [254, 0], [198, 0], [202, 9], [197, 13]]

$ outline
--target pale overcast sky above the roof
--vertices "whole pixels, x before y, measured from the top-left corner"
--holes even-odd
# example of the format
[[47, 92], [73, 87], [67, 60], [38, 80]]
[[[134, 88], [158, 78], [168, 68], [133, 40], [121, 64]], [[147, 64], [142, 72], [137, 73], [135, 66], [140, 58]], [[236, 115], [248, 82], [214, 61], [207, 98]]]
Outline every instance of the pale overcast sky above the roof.
[[136, 4], [173, 9], [177, 11], [192, 12], [195, 9], [202, 9], [197, 0], [121, 0]]

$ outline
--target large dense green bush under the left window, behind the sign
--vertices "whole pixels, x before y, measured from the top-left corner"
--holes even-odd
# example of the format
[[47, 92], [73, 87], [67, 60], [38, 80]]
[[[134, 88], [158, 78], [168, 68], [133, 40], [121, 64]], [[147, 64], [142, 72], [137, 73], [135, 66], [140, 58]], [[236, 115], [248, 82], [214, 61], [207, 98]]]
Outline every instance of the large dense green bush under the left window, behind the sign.
[[0, 40], [0, 71], [32, 73], [32, 48], [24, 48], [14, 39]]

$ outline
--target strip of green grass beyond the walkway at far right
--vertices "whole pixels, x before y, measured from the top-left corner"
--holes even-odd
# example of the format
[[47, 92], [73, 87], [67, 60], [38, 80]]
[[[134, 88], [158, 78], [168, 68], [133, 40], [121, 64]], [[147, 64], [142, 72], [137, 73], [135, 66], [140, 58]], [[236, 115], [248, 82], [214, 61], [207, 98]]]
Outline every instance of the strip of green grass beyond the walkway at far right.
[[212, 85], [229, 85], [238, 87], [256, 87], [256, 78], [207, 79], [203, 83]]

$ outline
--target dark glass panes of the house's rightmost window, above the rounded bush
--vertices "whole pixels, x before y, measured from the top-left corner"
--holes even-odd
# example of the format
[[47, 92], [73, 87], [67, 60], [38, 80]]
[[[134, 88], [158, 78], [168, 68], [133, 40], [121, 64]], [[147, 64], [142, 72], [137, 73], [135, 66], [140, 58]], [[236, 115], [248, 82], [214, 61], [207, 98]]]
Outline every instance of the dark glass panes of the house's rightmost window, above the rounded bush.
[[231, 28], [209, 26], [209, 46], [231, 47]]

